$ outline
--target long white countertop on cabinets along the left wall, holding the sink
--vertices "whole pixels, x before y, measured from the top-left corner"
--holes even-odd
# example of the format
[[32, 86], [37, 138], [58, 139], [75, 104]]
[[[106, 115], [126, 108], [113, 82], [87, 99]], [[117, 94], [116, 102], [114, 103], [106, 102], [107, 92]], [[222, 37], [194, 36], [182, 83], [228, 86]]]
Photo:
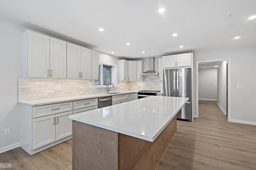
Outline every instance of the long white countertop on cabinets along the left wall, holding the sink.
[[[116, 94], [111, 94], [116, 93]], [[62, 97], [62, 98], [49, 98], [49, 99], [39, 99], [39, 100], [27, 100], [27, 101], [19, 101], [20, 104], [25, 104], [28, 106], [40, 106], [45, 104], [55, 104], [60, 102], [72, 102], [76, 100], [84, 100], [84, 99], [91, 99], [91, 98], [100, 98], [104, 96], [115, 96], [120, 94], [128, 94], [128, 93], [137, 93], [135, 91], [122, 91], [122, 92], [110, 92], [110, 93], [100, 93], [100, 94], [88, 94], [88, 95], [81, 95], [81, 96], [69, 96], [69, 97]]]

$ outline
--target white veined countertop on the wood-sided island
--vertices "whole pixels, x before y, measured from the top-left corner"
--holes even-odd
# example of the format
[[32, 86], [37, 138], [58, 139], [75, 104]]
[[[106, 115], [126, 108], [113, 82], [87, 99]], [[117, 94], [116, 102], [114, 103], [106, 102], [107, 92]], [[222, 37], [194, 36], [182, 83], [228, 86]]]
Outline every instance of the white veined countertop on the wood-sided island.
[[69, 119], [153, 142], [188, 99], [150, 96], [70, 115]]

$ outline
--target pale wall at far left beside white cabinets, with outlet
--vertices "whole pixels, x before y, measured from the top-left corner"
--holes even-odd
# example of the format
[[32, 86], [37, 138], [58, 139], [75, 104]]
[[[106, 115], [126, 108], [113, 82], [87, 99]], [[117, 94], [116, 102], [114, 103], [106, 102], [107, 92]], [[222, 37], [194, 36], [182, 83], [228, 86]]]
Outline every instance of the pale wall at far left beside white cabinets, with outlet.
[[[26, 29], [0, 20], [0, 152], [19, 142], [18, 77], [21, 76], [21, 33]], [[4, 136], [4, 129], [11, 135]]]

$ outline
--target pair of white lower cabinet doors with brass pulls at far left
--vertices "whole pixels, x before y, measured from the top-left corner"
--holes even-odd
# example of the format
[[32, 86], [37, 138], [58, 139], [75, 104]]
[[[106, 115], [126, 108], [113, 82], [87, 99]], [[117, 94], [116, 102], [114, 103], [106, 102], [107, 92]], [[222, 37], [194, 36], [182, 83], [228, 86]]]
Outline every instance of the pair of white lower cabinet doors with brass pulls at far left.
[[32, 120], [32, 149], [40, 148], [72, 135], [73, 111], [38, 117]]

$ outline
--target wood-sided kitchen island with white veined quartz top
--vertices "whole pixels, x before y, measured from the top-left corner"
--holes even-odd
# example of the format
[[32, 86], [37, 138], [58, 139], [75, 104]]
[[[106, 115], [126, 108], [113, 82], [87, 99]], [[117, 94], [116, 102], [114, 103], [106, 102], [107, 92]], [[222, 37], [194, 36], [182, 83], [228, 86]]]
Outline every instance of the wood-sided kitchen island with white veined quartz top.
[[76, 169], [155, 169], [188, 98], [150, 96], [70, 115]]

